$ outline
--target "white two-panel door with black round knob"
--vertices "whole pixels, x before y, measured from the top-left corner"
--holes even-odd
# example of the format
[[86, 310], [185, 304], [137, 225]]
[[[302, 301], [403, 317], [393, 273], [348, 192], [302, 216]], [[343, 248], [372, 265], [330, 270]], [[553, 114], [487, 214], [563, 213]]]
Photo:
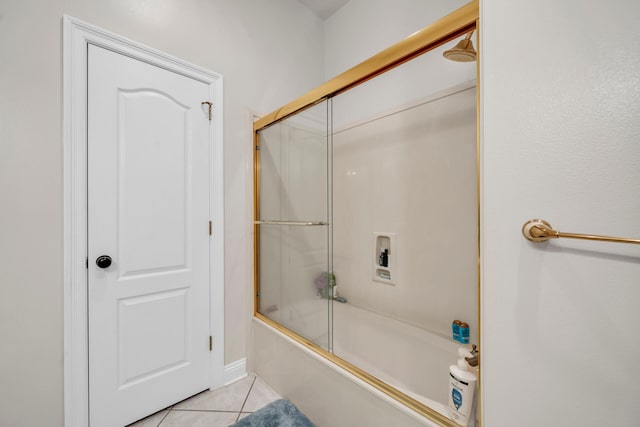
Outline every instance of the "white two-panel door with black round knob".
[[89, 417], [117, 427], [208, 388], [209, 87], [88, 58]]

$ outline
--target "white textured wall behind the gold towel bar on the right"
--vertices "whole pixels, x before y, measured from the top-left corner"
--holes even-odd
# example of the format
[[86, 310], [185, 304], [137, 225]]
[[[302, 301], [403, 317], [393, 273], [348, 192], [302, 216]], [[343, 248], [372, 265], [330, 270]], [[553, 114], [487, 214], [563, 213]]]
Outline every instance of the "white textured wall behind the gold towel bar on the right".
[[487, 427], [637, 426], [640, 3], [484, 0], [482, 380]]

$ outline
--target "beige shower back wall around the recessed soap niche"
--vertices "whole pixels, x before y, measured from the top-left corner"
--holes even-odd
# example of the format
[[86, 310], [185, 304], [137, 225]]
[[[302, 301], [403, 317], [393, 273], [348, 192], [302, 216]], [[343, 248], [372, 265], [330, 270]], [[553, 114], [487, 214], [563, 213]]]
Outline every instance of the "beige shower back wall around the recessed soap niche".
[[[334, 99], [334, 117], [343, 109]], [[334, 272], [350, 303], [477, 343], [476, 89], [457, 86], [333, 134]], [[372, 280], [373, 233], [396, 234], [395, 285]], [[339, 330], [340, 325], [334, 328]]]

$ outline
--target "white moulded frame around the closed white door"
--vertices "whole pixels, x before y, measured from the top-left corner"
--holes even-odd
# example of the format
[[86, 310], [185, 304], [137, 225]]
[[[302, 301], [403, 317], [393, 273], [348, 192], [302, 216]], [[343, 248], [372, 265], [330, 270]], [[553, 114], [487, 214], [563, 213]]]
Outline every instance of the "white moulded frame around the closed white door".
[[94, 44], [209, 85], [210, 133], [210, 387], [224, 373], [224, 187], [222, 76], [65, 15], [63, 18], [64, 170], [64, 419], [66, 427], [89, 425], [87, 306], [87, 45]]

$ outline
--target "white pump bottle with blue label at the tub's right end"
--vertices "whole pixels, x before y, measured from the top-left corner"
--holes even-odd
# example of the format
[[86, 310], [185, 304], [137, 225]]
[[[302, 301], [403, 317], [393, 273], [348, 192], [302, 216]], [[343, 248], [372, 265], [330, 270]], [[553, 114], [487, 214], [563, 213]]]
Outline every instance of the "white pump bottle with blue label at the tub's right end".
[[458, 349], [458, 363], [449, 366], [449, 418], [461, 426], [475, 426], [474, 396], [478, 377], [469, 371], [467, 349]]

